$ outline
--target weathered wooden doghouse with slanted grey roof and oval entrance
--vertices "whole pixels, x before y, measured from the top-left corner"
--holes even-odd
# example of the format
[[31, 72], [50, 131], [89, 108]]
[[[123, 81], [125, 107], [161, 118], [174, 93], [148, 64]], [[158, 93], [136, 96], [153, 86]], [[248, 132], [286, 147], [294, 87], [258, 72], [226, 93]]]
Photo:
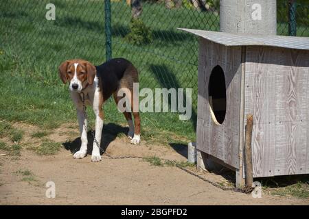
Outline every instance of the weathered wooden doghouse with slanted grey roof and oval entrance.
[[308, 174], [309, 38], [182, 30], [199, 36], [198, 151], [242, 178], [253, 114], [253, 177]]

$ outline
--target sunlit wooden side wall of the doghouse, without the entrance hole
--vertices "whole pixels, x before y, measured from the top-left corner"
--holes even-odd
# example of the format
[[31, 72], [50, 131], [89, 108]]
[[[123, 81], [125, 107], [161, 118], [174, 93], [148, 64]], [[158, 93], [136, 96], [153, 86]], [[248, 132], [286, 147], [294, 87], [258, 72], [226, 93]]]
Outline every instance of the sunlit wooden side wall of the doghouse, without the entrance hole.
[[308, 51], [247, 47], [245, 114], [253, 114], [254, 177], [309, 172], [308, 66]]

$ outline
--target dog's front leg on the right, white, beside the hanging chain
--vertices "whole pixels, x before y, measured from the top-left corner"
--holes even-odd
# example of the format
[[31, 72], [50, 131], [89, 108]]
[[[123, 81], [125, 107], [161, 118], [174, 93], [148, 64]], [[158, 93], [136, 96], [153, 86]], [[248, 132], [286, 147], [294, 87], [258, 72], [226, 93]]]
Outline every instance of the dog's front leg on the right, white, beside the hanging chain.
[[100, 144], [101, 144], [103, 123], [104, 123], [102, 103], [103, 103], [102, 95], [100, 94], [97, 88], [93, 96], [93, 112], [95, 113], [95, 139], [93, 139], [93, 149], [91, 154], [91, 161], [93, 162], [100, 162], [101, 160]]

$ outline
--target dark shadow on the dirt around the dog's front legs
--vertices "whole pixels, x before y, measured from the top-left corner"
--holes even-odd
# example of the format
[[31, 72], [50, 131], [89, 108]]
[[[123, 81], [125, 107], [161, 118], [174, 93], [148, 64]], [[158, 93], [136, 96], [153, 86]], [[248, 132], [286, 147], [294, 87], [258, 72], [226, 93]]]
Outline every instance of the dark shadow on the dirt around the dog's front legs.
[[[128, 133], [128, 127], [122, 127], [120, 125], [116, 125], [115, 123], [108, 123], [103, 126], [102, 131], [102, 142], [101, 142], [101, 149], [100, 153], [106, 151], [107, 147], [120, 133]], [[94, 134], [94, 133], [93, 133]], [[91, 134], [91, 131], [87, 132], [87, 138], [88, 138], [88, 149], [87, 154], [91, 155], [92, 152], [92, 146], [93, 146], [93, 136]], [[67, 149], [68, 151], [71, 151], [71, 153], [76, 153], [80, 149], [80, 137], [76, 138], [75, 140], [71, 142], [64, 142], [62, 145]]]

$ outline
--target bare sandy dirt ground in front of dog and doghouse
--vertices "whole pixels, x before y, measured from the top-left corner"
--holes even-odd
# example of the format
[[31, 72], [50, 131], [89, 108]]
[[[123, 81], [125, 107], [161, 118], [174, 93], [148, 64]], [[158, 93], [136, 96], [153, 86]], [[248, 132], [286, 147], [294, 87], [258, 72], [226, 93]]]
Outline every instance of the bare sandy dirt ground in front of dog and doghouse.
[[[110, 125], [111, 126], [111, 125]], [[112, 125], [113, 126], [113, 125]], [[38, 144], [29, 137], [36, 129], [19, 125], [25, 130], [25, 145]], [[108, 129], [109, 128], [109, 129]], [[185, 146], [163, 146], [141, 142], [131, 145], [125, 136], [116, 137], [104, 127], [104, 146], [111, 155], [139, 155], [185, 161]], [[299, 198], [283, 198], [221, 190], [179, 168], [153, 166], [143, 159], [109, 159], [91, 162], [91, 155], [73, 159], [72, 151], [79, 146], [76, 127], [60, 127], [48, 136], [62, 143], [56, 155], [37, 155], [23, 149], [19, 157], [3, 155], [0, 151], [0, 204], [1, 205], [308, 205]], [[117, 127], [119, 131], [126, 129]], [[70, 134], [67, 134], [70, 133]], [[37, 140], [39, 141], [39, 140]], [[25, 143], [27, 142], [27, 144]], [[30, 170], [33, 179], [23, 180], [17, 174]], [[220, 175], [200, 172], [211, 181], [225, 181]], [[45, 183], [56, 185], [56, 198], [46, 198]]]

